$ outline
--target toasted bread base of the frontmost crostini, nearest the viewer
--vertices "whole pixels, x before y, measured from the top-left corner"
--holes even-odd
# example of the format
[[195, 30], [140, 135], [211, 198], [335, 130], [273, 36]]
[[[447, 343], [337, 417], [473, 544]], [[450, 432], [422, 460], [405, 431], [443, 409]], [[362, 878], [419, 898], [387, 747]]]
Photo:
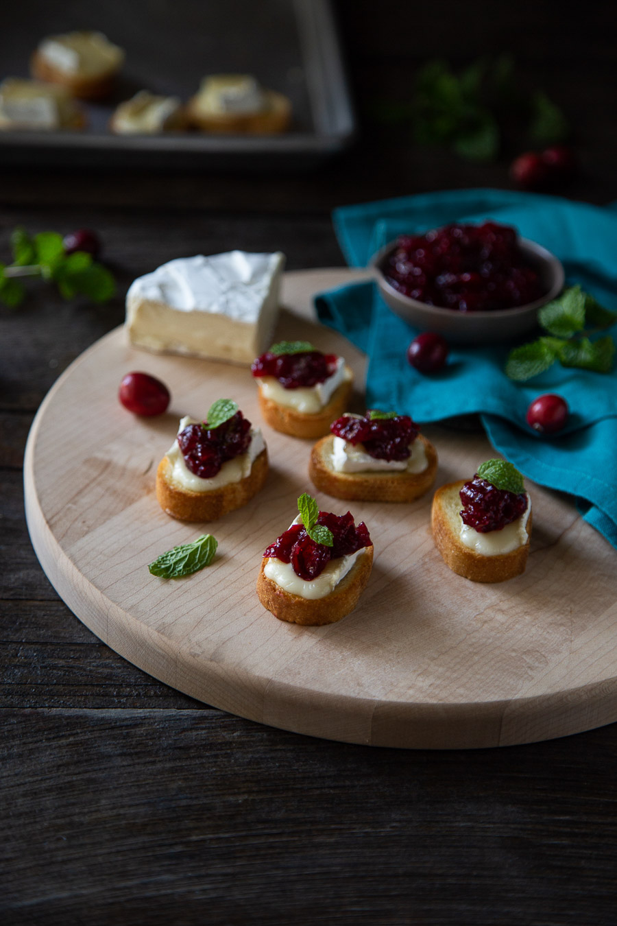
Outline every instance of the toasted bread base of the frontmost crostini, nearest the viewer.
[[318, 627], [333, 624], [344, 618], [358, 604], [373, 568], [373, 546], [365, 546], [356, 559], [352, 569], [343, 576], [334, 591], [325, 598], [310, 601], [298, 594], [285, 592], [276, 582], [264, 575], [262, 560], [257, 577], [257, 595], [262, 605], [271, 611], [275, 618], [287, 620], [291, 624], [303, 624]]

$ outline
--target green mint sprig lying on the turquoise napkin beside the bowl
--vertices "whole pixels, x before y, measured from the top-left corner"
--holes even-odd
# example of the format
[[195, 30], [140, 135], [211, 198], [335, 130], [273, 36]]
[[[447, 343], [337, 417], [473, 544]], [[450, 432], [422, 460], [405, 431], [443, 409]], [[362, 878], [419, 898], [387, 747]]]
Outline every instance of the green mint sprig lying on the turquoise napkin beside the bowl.
[[617, 321], [617, 312], [600, 306], [592, 295], [576, 285], [567, 287], [557, 299], [542, 307], [537, 320], [548, 334], [514, 347], [505, 366], [511, 380], [530, 380], [557, 362], [563, 367], [610, 372], [615, 353], [611, 335], [595, 341], [589, 335], [610, 328]]

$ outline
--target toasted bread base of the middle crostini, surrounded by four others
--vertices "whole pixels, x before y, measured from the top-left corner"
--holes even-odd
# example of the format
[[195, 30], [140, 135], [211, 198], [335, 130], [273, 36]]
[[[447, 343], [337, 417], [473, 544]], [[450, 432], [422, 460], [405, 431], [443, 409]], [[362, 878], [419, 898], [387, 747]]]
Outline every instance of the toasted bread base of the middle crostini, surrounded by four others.
[[430, 489], [437, 473], [437, 451], [423, 434], [415, 438], [424, 444], [428, 466], [424, 472], [337, 472], [332, 469], [334, 435], [317, 441], [309, 461], [309, 476], [320, 492], [356, 502], [413, 502]]

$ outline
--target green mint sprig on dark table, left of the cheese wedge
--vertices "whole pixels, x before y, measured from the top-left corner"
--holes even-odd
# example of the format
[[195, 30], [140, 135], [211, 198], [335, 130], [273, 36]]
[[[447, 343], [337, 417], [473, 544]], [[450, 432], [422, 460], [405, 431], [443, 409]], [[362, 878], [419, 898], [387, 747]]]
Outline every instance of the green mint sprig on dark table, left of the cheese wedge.
[[39, 232], [30, 235], [17, 228], [11, 234], [12, 264], [0, 264], [0, 302], [17, 308], [26, 298], [22, 279], [54, 282], [60, 295], [72, 299], [84, 295], [92, 302], [107, 302], [116, 293], [113, 274], [85, 251], [66, 254], [62, 235]]

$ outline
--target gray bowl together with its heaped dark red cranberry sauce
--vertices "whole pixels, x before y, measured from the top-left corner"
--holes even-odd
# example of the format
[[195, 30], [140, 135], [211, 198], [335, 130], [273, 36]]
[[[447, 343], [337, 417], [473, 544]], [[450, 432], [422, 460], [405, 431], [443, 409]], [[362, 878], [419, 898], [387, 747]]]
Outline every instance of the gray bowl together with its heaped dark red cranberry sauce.
[[537, 309], [561, 292], [564, 280], [557, 257], [493, 221], [401, 235], [371, 265], [394, 312], [467, 344], [531, 331]]

